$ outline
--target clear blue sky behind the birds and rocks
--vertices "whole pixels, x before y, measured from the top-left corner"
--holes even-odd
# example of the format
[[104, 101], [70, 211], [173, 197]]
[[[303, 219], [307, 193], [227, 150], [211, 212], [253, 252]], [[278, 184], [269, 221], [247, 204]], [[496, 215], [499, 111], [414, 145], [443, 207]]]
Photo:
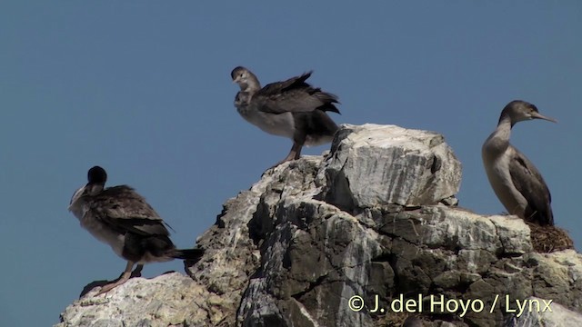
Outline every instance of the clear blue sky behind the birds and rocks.
[[[517, 124], [512, 143], [544, 175], [555, 221], [582, 243], [582, 2], [283, 4], [3, 1], [0, 4], [0, 325], [58, 322], [85, 284], [125, 262], [66, 208], [93, 165], [148, 199], [190, 247], [221, 205], [291, 141], [246, 123], [230, 71], [263, 84], [315, 70], [338, 124], [445, 135], [463, 163], [460, 205], [505, 209], [481, 144], [509, 101], [559, 123]], [[320, 154], [329, 146], [306, 149]], [[146, 277], [181, 262], [146, 266]]]

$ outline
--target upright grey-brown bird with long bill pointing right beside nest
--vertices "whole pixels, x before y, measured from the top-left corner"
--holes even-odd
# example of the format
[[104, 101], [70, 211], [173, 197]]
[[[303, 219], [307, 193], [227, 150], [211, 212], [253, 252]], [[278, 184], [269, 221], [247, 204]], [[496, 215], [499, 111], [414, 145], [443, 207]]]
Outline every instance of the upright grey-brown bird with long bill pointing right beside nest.
[[534, 104], [512, 101], [499, 117], [496, 130], [489, 135], [481, 154], [493, 191], [509, 214], [539, 225], [554, 225], [551, 195], [546, 182], [524, 154], [509, 144], [511, 128], [518, 122], [544, 119], [556, 120], [537, 112]]

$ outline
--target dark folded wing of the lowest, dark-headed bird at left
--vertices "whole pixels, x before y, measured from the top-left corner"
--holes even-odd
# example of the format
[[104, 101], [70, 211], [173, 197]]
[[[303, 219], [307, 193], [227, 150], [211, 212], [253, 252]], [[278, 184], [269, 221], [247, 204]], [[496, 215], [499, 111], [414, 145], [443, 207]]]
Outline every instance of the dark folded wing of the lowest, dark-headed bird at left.
[[109, 187], [93, 199], [89, 210], [101, 222], [119, 232], [168, 235], [166, 223], [133, 188]]

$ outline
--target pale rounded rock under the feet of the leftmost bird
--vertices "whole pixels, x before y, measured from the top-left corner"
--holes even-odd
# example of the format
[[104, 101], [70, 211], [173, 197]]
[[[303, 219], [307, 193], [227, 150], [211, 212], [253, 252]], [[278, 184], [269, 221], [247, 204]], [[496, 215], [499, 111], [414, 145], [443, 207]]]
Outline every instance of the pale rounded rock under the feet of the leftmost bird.
[[132, 278], [95, 297], [96, 291], [68, 306], [61, 314], [63, 322], [56, 326], [186, 326], [205, 322], [206, 288], [178, 272], [151, 280]]

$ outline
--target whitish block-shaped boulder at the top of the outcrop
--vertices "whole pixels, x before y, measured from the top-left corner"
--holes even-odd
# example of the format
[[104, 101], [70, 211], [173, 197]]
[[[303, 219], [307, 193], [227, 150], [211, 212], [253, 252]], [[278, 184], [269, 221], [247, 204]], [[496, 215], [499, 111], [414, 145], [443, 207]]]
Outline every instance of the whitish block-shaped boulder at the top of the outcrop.
[[461, 164], [442, 135], [342, 125], [326, 167], [327, 201], [346, 210], [436, 204], [458, 192]]

